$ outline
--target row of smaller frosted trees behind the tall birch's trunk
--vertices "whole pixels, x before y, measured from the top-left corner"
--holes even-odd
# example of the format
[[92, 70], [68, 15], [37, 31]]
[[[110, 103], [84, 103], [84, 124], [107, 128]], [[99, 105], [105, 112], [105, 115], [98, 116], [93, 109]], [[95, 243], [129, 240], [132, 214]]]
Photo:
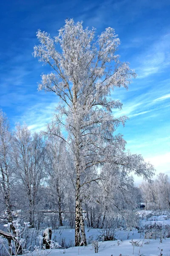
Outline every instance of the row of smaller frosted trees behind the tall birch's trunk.
[[[132, 176], [105, 164], [81, 177], [81, 212], [88, 227], [102, 227], [118, 213], [129, 220], [127, 210], [140, 202]], [[0, 198], [1, 226], [21, 218], [37, 229], [63, 222], [75, 227], [75, 163], [67, 144], [57, 136], [31, 133], [26, 124], [11, 131], [2, 110]]]

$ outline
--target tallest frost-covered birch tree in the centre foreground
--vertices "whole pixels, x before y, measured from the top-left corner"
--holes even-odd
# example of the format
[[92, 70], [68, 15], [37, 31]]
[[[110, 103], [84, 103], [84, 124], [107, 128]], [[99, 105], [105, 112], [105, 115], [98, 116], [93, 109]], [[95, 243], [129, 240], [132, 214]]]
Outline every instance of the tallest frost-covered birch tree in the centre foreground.
[[86, 244], [80, 213], [84, 172], [92, 166], [113, 163], [145, 178], [153, 174], [153, 167], [142, 156], [125, 152], [125, 140], [115, 134], [127, 117], [113, 115], [122, 103], [111, 98], [111, 92], [115, 87], [127, 89], [136, 74], [128, 63], [119, 60], [116, 50], [120, 40], [110, 27], [96, 36], [96, 29], [83, 29], [82, 22], [70, 19], [56, 37], [38, 30], [37, 38], [40, 44], [34, 47], [34, 57], [52, 68], [51, 73], [42, 74], [39, 90], [54, 92], [60, 99], [48, 133], [62, 138], [74, 154], [75, 246], [79, 246]]

